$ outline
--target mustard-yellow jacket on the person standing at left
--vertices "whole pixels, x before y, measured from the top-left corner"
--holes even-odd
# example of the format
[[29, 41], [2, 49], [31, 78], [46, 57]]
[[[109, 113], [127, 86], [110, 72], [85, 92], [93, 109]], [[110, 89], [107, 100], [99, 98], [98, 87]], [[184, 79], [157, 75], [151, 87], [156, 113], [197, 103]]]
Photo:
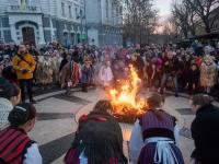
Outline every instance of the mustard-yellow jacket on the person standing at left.
[[[19, 80], [28, 80], [33, 79], [33, 72], [36, 68], [36, 61], [34, 60], [33, 56], [30, 54], [22, 55], [22, 57], [30, 63], [26, 63], [26, 61], [22, 60], [18, 55], [15, 55], [12, 59], [13, 62], [13, 69], [16, 71], [16, 77]], [[21, 61], [22, 60], [22, 61]], [[25, 74], [21, 72], [22, 69], [28, 69], [30, 71]]]

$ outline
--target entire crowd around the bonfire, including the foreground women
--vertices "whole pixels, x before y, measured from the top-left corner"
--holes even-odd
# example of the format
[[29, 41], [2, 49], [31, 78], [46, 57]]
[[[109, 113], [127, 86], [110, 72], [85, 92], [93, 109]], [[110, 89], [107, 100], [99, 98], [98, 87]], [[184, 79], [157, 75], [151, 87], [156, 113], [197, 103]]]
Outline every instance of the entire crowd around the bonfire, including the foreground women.
[[[196, 114], [191, 128], [193, 160], [197, 164], [219, 163], [219, 109], [209, 95], [219, 95], [219, 90], [212, 90], [219, 83], [219, 47], [200, 48], [197, 44], [194, 42], [187, 49], [175, 45], [66, 48], [54, 42], [36, 48], [0, 44], [0, 163], [43, 163], [36, 142], [27, 136], [36, 120], [33, 85], [45, 89], [58, 84], [66, 89], [67, 96], [73, 86], [80, 86], [82, 92], [99, 84], [108, 89], [128, 77], [130, 65], [141, 79], [140, 89], [152, 93], [146, 98], [149, 109], [136, 120], [131, 132], [130, 162], [184, 164], [176, 118], [162, 108], [165, 90], [174, 87], [176, 97], [185, 90], [192, 95], [189, 104]], [[31, 104], [25, 102], [26, 93]], [[128, 163], [122, 129], [112, 110], [111, 102], [102, 99], [93, 112], [80, 118], [64, 159], [66, 164]]]

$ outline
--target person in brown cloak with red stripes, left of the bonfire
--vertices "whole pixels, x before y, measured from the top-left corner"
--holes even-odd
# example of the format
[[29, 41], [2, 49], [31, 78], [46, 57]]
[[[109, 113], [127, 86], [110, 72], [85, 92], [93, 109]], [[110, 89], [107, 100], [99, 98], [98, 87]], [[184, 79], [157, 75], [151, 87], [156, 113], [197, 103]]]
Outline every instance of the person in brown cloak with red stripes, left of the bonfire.
[[71, 89], [79, 84], [79, 63], [69, 61], [61, 70], [61, 89], [66, 87], [66, 95], [71, 95]]

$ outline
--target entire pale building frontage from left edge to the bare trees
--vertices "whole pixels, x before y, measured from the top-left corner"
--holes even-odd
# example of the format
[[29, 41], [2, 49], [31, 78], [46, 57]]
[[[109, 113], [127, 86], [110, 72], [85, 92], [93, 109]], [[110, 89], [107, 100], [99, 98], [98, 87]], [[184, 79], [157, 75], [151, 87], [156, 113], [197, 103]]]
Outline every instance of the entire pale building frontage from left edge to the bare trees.
[[77, 45], [122, 42], [116, 0], [1, 0], [0, 38], [5, 43]]

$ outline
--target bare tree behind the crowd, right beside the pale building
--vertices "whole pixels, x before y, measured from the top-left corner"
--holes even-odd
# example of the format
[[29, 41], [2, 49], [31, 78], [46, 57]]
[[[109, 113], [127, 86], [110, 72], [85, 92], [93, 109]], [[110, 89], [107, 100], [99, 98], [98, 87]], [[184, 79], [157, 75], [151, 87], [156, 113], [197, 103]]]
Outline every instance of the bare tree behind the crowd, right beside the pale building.
[[149, 43], [157, 26], [157, 10], [153, 0], [124, 0], [124, 37], [134, 43]]

